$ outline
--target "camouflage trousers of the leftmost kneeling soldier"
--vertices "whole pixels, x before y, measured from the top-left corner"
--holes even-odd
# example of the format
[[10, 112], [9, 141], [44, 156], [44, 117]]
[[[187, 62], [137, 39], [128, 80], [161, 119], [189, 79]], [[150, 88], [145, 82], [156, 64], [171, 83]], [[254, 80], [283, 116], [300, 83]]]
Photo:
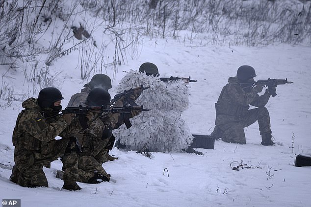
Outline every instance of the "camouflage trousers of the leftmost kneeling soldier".
[[77, 152], [66, 153], [68, 138], [55, 140], [49, 145], [49, 153], [42, 154], [34, 150], [15, 147], [14, 161], [10, 180], [23, 187], [48, 187], [43, 167], [50, 168], [51, 162], [63, 157], [64, 180], [75, 180], [78, 174]]

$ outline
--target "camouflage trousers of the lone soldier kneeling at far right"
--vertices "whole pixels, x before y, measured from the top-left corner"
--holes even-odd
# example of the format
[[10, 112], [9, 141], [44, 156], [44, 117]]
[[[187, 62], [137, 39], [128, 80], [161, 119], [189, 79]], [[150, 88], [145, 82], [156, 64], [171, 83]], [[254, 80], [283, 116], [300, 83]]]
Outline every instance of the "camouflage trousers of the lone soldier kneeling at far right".
[[244, 127], [258, 121], [260, 134], [270, 132], [270, 116], [265, 107], [259, 107], [248, 110], [247, 114], [237, 121], [231, 121], [225, 124], [216, 125], [212, 136], [215, 138], [222, 138], [225, 142], [233, 142], [239, 144], [246, 144]]

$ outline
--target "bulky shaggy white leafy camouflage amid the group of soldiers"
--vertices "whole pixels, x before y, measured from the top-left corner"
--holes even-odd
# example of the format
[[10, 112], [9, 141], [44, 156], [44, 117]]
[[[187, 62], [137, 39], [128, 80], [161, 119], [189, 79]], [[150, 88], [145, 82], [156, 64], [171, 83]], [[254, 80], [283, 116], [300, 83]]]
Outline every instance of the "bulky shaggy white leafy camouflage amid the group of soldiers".
[[150, 152], [181, 152], [192, 143], [192, 135], [181, 118], [188, 108], [189, 90], [182, 80], [164, 83], [159, 78], [130, 70], [117, 88], [118, 93], [143, 85], [150, 86], [135, 101], [149, 112], [130, 119], [132, 126], [122, 125], [114, 130], [116, 140], [126, 144], [126, 149]]

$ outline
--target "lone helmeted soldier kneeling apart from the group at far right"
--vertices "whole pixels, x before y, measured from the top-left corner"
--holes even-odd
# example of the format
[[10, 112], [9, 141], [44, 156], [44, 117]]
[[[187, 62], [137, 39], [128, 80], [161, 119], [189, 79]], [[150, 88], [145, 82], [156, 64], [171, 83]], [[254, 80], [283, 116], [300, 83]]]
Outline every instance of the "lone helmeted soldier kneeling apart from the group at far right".
[[[258, 121], [261, 144], [274, 145], [271, 135], [270, 115], [265, 107], [275, 87], [262, 91], [262, 85], [254, 88], [255, 69], [251, 66], [241, 66], [237, 69], [236, 77], [230, 77], [228, 84], [223, 87], [216, 106], [216, 121], [211, 136], [222, 138], [225, 142], [246, 144], [244, 128]], [[249, 109], [251, 106], [257, 108]]]

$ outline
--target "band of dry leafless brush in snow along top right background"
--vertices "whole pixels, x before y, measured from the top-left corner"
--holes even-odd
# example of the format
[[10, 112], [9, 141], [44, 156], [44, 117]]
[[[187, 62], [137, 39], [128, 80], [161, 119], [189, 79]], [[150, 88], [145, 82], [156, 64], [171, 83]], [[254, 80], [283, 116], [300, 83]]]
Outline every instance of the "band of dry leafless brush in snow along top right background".
[[[142, 27], [150, 38], [207, 38], [212, 44], [311, 46], [311, 3], [298, 0], [84, 0], [84, 8], [107, 22]], [[181, 31], [191, 31], [181, 37]]]

